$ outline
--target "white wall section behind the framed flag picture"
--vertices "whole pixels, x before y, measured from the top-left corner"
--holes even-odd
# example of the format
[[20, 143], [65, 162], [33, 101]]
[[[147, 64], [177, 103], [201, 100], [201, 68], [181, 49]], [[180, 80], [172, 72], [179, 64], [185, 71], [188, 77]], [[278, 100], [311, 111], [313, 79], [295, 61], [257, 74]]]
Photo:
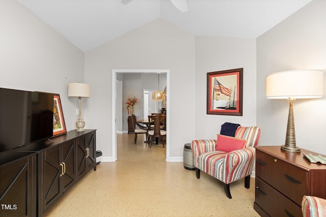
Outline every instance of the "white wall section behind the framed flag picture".
[[[207, 73], [243, 68], [243, 115], [206, 114]], [[256, 126], [256, 40], [196, 37], [196, 139], [216, 139], [224, 122]]]

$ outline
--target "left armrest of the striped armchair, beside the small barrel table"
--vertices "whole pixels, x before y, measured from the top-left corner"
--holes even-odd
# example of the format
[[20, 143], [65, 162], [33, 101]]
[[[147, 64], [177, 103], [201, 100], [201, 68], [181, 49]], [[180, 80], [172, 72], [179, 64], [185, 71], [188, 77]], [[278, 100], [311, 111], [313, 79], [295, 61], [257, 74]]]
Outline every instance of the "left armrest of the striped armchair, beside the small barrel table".
[[215, 150], [215, 145], [218, 140], [215, 139], [200, 139], [192, 141], [192, 152], [194, 156], [195, 167], [198, 168], [198, 157], [200, 154]]

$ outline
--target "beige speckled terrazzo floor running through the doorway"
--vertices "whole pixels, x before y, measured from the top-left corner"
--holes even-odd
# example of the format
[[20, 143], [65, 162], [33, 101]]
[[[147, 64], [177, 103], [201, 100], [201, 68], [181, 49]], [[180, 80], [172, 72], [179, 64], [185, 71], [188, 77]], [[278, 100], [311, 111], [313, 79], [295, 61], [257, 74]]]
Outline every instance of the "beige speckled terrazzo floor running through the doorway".
[[161, 144], [149, 148], [139, 136], [117, 135], [116, 162], [101, 162], [45, 216], [259, 216], [255, 181], [230, 184], [232, 199], [215, 178], [166, 162]]

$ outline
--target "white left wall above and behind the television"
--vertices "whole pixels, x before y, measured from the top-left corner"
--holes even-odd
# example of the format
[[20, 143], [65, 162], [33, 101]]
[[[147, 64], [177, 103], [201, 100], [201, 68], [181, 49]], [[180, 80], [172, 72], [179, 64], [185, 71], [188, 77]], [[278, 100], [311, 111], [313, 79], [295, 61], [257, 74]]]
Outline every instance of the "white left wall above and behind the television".
[[67, 87], [84, 82], [84, 53], [17, 1], [0, 1], [0, 26], [0, 87], [60, 94], [67, 131], [75, 129], [78, 101]]

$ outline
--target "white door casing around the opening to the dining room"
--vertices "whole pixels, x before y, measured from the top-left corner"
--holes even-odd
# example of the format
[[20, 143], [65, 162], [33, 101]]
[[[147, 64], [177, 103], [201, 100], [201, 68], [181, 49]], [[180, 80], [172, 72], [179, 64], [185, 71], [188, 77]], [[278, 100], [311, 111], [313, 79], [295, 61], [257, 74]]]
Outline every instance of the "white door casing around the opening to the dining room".
[[[117, 102], [121, 101], [122, 95], [118, 95], [117, 75], [120, 73], [138, 73], [138, 74], [166, 74], [167, 75], [167, 91], [166, 91], [166, 113], [167, 113], [167, 137], [166, 137], [166, 161], [170, 161], [170, 70], [112, 70], [112, 160], [117, 160]], [[149, 94], [149, 93], [148, 93]], [[151, 95], [148, 95], [151, 96]], [[153, 112], [154, 113], [154, 112]]]

